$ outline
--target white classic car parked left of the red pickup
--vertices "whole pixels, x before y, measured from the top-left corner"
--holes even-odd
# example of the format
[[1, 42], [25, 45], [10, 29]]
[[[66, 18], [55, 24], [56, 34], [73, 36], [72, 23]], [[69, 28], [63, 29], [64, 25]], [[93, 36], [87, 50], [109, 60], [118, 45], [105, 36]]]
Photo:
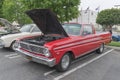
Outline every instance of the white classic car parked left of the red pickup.
[[0, 47], [9, 47], [14, 50], [14, 43], [17, 38], [25, 36], [40, 35], [41, 31], [35, 24], [27, 24], [22, 26], [22, 28], [17, 32], [7, 31], [4, 34], [1, 34], [0, 37]]

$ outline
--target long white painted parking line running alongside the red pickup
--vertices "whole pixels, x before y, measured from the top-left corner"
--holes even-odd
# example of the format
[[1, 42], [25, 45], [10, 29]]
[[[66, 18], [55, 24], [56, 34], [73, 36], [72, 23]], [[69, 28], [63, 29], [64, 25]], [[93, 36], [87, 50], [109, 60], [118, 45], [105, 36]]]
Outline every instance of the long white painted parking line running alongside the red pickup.
[[83, 63], [83, 64], [77, 66], [76, 68], [73, 68], [73, 69], [71, 69], [71, 70], [69, 70], [69, 71], [66, 71], [66, 72], [63, 73], [62, 75], [55, 77], [53, 80], [60, 80], [60, 79], [64, 78], [65, 76], [73, 73], [74, 71], [76, 71], [76, 70], [78, 70], [78, 69], [80, 69], [80, 68], [82, 68], [82, 67], [84, 67], [84, 66], [86, 66], [86, 65], [88, 65], [88, 64], [90, 64], [90, 63], [92, 63], [92, 62], [94, 62], [94, 61], [96, 61], [97, 59], [103, 57], [104, 55], [112, 52], [113, 50], [114, 50], [114, 49], [111, 49], [111, 50], [109, 50], [109, 51], [107, 51], [107, 52], [105, 52], [105, 53], [103, 53], [103, 54], [101, 54], [101, 55], [99, 55], [99, 56], [97, 56], [97, 57], [89, 60], [88, 62]]

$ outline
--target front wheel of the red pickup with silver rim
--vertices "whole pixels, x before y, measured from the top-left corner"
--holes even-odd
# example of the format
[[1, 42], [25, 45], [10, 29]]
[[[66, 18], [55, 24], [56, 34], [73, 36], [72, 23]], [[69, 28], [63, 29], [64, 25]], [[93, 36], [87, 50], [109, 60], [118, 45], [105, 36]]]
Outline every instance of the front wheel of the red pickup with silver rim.
[[69, 68], [70, 64], [71, 64], [71, 57], [69, 53], [67, 53], [62, 57], [60, 63], [55, 67], [57, 71], [63, 72]]

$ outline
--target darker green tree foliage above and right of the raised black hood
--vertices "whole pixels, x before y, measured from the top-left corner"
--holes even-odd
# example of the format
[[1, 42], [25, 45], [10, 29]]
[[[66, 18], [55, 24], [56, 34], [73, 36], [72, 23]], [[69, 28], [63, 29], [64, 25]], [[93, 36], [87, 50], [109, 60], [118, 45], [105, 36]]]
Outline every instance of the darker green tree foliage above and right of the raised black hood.
[[80, 0], [23, 0], [28, 9], [49, 8], [55, 12], [61, 22], [78, 17]]

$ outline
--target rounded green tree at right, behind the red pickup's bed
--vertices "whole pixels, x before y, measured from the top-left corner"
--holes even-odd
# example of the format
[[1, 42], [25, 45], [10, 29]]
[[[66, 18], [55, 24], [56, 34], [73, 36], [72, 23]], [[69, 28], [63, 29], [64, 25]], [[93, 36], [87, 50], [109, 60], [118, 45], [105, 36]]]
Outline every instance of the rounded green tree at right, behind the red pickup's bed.
[[108, 26], [112, 28], [113, 25], [120, 24], [120, 9], [112, 8], [102, 10], [97, 16], [96, 23], [102, 25], [103, 29]]

